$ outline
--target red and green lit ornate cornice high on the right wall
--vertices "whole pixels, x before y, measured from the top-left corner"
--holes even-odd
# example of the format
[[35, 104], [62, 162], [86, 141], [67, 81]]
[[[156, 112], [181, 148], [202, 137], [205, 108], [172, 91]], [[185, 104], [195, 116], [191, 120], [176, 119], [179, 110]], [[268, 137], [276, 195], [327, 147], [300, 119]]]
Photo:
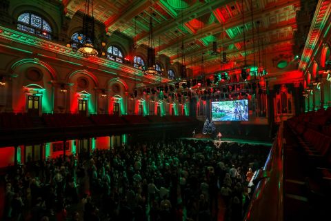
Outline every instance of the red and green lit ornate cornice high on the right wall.
[[313, 60], [313, 53], [316, 52], [320, 46], [317, 43], [319, 42], [319, 39], [323, 37], [321, 30], [323, 30], [325, 25], [328, 25], [327, 22], [330, 12], [331, 0], [319, 0], [314, 18], [312, 19], [312, 25], [310, 26], [307, 41], [305, 41], [305, 48], [303, 48], [301, 61], [299, 63], [299, 70], [303, 71], [303, 73], [306, 73], [308, 70]]

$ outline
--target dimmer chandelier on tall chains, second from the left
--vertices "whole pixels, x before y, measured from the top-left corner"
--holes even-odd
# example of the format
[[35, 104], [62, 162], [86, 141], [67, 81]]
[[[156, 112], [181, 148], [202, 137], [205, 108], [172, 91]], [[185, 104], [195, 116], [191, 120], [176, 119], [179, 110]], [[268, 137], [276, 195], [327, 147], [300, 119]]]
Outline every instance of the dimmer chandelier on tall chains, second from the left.
[[147, 68], [143, 71], [145, 75], [157, 75], [155, 64], [155, 48], [154, 48], [154, 35], [152, 26], [152, 15], [150, 16], [150, 33], [148, 35], [148, 48], [147, 48]]

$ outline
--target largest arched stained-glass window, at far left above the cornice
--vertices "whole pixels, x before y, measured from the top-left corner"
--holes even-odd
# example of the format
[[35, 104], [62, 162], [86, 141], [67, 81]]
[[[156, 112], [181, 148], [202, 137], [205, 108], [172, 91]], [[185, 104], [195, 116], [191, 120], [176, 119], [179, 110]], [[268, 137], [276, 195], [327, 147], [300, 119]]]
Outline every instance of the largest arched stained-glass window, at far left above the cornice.
[[23, 13], [19, 16], [17, 19], [17, 29], [39, 37], [52, 39], [52, 28], [50, 28], [50, 24], [39, 15], [34, 15], [30, 12]]

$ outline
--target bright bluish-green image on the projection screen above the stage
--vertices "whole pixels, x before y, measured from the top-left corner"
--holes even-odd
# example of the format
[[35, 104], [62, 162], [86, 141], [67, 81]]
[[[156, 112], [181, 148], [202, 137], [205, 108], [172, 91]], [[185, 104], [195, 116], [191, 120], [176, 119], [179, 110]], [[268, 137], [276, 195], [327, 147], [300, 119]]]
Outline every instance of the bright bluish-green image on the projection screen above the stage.
[[212, 121], [248, 121], [248, 99], [212, 102]]

